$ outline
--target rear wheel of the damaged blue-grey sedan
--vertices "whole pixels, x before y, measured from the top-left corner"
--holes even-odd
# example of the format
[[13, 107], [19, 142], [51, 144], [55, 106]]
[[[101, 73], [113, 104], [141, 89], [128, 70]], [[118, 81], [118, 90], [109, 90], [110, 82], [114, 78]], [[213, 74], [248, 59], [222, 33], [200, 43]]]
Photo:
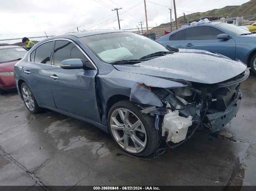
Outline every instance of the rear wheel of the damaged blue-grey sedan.
[[42, 111], [42, 108], [38, 106], [31, 89], [25, 82], [21, 84], [21, 95], [28, 111], [31, 113], [39, 113]]

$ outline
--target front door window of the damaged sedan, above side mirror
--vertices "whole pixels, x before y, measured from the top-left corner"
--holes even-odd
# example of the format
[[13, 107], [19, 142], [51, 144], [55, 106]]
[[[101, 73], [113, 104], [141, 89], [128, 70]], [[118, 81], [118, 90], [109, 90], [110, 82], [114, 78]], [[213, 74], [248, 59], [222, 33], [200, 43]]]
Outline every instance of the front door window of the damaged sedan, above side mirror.
[[78, 49], [75, 44], [67, 40], [56, 40], [54, 48], [53, 63], [60, 65], [65, 59], [79, 58], [88, 61], [85, 55]]

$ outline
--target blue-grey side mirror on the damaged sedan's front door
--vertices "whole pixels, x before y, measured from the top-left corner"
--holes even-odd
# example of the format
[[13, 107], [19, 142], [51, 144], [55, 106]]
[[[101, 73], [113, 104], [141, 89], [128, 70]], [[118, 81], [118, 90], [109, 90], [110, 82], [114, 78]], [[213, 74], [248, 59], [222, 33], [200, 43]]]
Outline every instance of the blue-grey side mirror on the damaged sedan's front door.
[[95, 69], [91, 62], [78, 58], [63, 60], [60, 66], [63, 69]]

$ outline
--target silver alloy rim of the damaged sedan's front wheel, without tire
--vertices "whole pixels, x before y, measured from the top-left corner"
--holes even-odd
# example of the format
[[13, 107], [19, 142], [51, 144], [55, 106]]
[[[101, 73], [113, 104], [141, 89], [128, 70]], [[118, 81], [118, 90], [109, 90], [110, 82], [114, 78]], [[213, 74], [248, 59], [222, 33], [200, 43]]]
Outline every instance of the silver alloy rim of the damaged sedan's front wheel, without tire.
[[139, 153], [147, 145], [147, 133], [133, 112], [118, 108], [111, 114], [110, 128], [116, 142], [126, 151]]

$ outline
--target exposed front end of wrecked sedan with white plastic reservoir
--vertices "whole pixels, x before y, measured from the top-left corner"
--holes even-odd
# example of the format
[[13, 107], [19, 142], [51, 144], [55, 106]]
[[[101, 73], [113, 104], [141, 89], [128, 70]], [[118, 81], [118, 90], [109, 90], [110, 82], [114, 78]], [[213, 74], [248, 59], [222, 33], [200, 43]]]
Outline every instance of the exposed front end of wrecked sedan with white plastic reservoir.
[[[139, 104], [138, 107], [141, 108], [142, 113], [149, 113], [155, 117], [155, 128], [160, 130], [166, 142], [184, 142], [194, 134], [199, 126], [218, 132], [238, 112], [242, 96], [239, 90], [240, 84], [248, 77], [248, 74], [249, 71], [246, 70], [218, 84], [182, 80], [182, 83], [187, 86], [175, 89], [155, 88], [140, 84], [136, 88], [144, 88], [145, 92], [146, 90], [153, 92], [163, 106], [145, 107], [146, 105]], [[192, 123], [197, 125], [194, 129], [192, 129]], [[187, 137], [188, 129], [192, 133]]]

